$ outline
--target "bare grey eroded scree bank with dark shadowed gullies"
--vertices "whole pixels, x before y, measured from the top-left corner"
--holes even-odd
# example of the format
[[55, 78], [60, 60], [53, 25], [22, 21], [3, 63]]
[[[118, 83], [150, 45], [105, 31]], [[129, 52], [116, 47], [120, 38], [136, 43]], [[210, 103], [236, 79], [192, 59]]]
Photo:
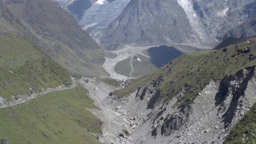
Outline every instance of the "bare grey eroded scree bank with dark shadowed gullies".
[[[190, 92], [190, 86], [169, 101], [156, 101], [164, 76], [138, 88], [127, 98], [109, 96], [118, 111], [127, 111], [126, 120], [136, 116], [130, 137], [134, 143], [217, 143], [221, 144], [230, 129], [256, 102], [255, 66], [240, 70], [220, 81], [211, 81], [193, 103], [177, 107], [178, 99]], [[129, 122], [133, 123], [132, 121]], [[147, 131], [145, 133], [145, 131]]]

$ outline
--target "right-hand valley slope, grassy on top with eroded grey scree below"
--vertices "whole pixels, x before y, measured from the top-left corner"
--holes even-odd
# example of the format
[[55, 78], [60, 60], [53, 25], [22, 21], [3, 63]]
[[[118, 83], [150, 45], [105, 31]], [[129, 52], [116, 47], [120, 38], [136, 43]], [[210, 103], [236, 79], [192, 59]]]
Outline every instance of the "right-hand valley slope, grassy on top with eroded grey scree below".
[[[185, 54], [151, 75], [130, 81], [106, 104], [121, 105], [128, 124], [136, 123], [130, 136], [135, 144], [222, 144], [256, 102], [256, 65], [249, 59], [255, 48], [255, 42], [238, 43], [226, 50]], [[240, 64], [243, 67], [237, 67]], [[225, 68], [232, 72], [225, 73]], [[131, 121], [134, 116], [136, 121]]]

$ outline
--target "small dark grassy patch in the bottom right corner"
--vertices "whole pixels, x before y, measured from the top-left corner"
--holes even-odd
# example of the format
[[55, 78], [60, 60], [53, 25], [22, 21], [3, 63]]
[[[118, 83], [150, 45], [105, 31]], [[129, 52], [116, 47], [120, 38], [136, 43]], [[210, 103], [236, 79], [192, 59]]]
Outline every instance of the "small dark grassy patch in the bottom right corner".
[[[245, 135], [243, 135], [245, 134]], [[254, 135], [253, 135], [254, 134]], [[224, 144], [244, 144], [243, 138], [247, 137], [246, 144], [256, 142], [256, 104], [246, 113], [242, 120], [236, 124], [226, 137]]]

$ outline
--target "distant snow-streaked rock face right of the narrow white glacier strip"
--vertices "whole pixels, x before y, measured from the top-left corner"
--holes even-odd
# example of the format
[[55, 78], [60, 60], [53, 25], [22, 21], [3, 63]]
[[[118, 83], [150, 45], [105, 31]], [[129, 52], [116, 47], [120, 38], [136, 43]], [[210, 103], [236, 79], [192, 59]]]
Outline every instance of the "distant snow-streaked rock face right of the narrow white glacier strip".
[[223, 35], [256, 16], [254, 0], [193, 0], [193, 8], [211, 37]]

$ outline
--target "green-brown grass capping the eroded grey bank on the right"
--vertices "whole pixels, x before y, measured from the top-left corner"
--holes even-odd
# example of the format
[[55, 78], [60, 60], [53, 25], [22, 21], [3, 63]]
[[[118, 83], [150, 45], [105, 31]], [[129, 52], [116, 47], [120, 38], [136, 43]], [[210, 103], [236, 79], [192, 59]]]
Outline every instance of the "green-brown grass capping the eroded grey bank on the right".
[[[236, 55], [239, 49], [251, 47], [249, 53]], [[221, 80], [226, 75], [235, 74], [240, 69], [256, 65], [256, 59], [249, 60], [249, 55], [256, 56], [256, 42], [240, 43], [238, 48], [235, 45], [228, 46], [226, 52], [223, 49], [209, 50], [201, 52], [191, 52], [179, 56], [173, 64], [165, 65], [152, 74], [131, 80], [127, 87], [116, 90], [115, 94], [119, 97], [125, 97], [134, 92], [138, 87], [143, 87], [154, 83], [158, 77], [165, 76], [164, 81], [160, 83], [160, 97], [155, 105], [161, 101], [169, 101], [184, 85], [190, 85], [191, 89], [182, 98], [179, 99], [180, 107], [190, 104], [197, 97], [198, 93], [213, 80]], [[170, 73], [167, 73], [171, 70]]]

